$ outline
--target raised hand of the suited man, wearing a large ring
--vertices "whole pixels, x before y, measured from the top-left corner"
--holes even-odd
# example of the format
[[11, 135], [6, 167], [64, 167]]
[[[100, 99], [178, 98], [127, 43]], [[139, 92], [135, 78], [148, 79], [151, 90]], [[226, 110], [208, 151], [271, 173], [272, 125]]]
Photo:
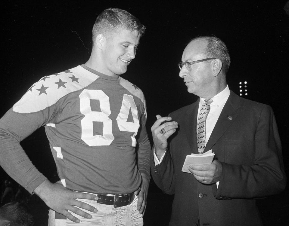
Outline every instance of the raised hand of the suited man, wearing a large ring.
[[169, 116], [161, 117], [157, 115], [157, 121], [155, 121], [151, 127], [156, 154], [158, 151], [166, 151], [168, 146], [167, 139], [175, 133], [178, 128], [178, 123], [171, 120], [172, 118]]

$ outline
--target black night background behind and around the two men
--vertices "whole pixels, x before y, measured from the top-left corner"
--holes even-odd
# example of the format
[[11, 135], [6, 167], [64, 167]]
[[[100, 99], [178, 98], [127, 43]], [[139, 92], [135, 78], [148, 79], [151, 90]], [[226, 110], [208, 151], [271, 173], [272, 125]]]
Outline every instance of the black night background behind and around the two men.
[[[231, 66], [227, 82], [239, 93], [247, 81], [246, 98], [271, 105], [289, 175], [288, 97], [289, 6], [287, 1], [2, 1], [2, 62], [0, 117], [30, 86], [45, 75], [85, 63], [90, 56], [91, 30], [98, 13], [122, 8], [147, 27], [137, 57], [123, 78], [144, 92], [147, 130], [155, 115], [168, 115], [197, 99], [179, 78], [177, 63], [188, 41], [197, 35], [216, 35], [227, 45]], [[152, 139], [151, 139], [152, 141]], [[56, 179], [44, 129], [21, 142], [35, 166]], [[1, 182], [7, 178], [0, 169]], [[281, 194], [258, 200], [265, 225], [289, 224], [288, 186]], [[151, 181], [145, 225], [167, 225], [172, 196]], [[30, 205], [36, 225], [47, 225], [47, 207]]]

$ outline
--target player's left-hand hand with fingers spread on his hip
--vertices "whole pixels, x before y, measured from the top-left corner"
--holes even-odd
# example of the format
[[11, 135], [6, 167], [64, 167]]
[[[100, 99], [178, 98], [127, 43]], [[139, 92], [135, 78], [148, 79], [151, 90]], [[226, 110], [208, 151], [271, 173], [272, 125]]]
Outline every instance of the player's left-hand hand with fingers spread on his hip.
[[87, 203], [81, 202], [76, 199], [89, 199], [98, 200], [98, 197], [93, 194], [71, 191], [65, 188], [61, 182], [56, 182], [55, 184], [45, 180], [41, 185], [39, 185], [33, 193], [37, 194], [46, 205], [53, 209], [54, 211], [61, 213], [73, 222], [79, 223], [80, 220], [73, 216], [71, 212], [80, 215], [85, 218], [92, 218], [87, 212], [82, 211], [79, 208], [88, 210], [90, 212], [97, 212], [97, 209], [90, 206]]

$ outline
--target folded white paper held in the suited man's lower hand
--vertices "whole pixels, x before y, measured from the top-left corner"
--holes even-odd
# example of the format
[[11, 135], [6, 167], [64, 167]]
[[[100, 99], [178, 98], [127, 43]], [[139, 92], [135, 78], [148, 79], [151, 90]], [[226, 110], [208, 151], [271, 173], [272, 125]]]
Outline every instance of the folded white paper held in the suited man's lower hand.
[[185, 159], [182, 171], [186, 173], [191, 173], [188, 170], [188, 167], [190, 165], [210, 164], [213, 161], [214, 155], [215, 153], [212, 153], [212, 149], [203, 154], [188, 154]]

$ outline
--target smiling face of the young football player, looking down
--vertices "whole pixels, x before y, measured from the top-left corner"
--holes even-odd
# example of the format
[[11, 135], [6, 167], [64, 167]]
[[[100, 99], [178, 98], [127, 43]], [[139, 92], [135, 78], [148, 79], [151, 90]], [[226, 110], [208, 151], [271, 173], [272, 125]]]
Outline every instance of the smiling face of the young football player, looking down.
[[106, 39], [103, 50], [104, 74], [114, 76], [126, 72], [127, 66], [135, 58], [139, 43], [137, 30], [120, 30], [112, 37]]

